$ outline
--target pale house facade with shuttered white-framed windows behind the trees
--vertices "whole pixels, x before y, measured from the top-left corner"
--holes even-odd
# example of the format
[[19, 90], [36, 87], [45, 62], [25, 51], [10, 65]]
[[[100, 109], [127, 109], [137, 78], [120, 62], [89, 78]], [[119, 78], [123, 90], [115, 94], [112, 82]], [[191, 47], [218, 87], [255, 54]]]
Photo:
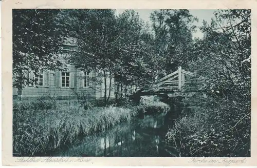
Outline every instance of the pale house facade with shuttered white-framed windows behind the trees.
[[[35, 75], [34, 72], [27, 72], [27, 77], [35, 79], [36, 84], [30, 84], [25, 86], [22, 91], [18, 91], [17, 88], [13, 88], [13, 96], [20, 96], [21, 98], [36, 98], [42, 96], [55, 96], [60, 99], [75, 98], [83, 96], [84, 98], [98, 99], [104, 97], [104, 78], [102, 83], [95, 85], [91, 83], [90, 79], [97, 76], [97, 72], [81, 71], [75, 66], [66, 64], [65, 56], [72, 54], [75, 45], [72, 43], [66, 43], [62, 48], [60, 61], [66, 65], [66, 71], [49, 71], [40, 69]], [[114, 84], [114, 78], [106, 79], [106, 91], [107, 97], [110, 93], [110, 97], [114, 97], [114, 89], [109, 88], [109, 83]], [[111, 90], [111, 92], [109, 92]]]

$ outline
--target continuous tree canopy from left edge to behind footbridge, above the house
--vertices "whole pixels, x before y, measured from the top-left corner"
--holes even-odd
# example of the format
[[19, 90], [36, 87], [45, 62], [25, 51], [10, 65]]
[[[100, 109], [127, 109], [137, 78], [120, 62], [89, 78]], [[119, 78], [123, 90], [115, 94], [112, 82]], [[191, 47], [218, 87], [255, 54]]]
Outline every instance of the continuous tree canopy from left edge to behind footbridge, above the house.
[[[191, 25], [195, 18], [188, 10], [155, 11], [151, 14], [152, 27], [134, 10], [125, 10], [119, 15], [112, 9], [15, 12], [15, 86], [29, 81], [28, 70], [60, 68], [56, 53], [60, 53], [64, 37], [69, 37], [76, 39], [77, 52], [70, 54], [67, 62], [82, 70], [94, 70], [98, 77], [104, 77], [105, 101], [110, 95], [107, 88], [126, 94], [130, 86], [151, 87], [158, 76], [180, 64], [187, 65], [187, 61], [180, 60], [186, 58], [195, 28]], [[31, 64], [34, 61], [36, 64]], [[113, 77], [116, 82], [107, 86], [107, 78]], [[100, 82], [91, 81], [94, 81], [91, 86]]]

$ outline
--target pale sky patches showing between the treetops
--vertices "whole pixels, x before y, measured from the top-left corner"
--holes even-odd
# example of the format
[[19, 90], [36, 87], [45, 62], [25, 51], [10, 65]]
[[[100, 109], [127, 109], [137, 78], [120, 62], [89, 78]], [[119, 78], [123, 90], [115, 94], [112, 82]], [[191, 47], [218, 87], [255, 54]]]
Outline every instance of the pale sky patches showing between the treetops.
[[[149, 22], [151, 24], [150, 20], [150, 14], [158, 9], [134, 9], [135, 12], [139, 14], [139, 16], [145, 21]], [[117, 14], [122, 13], [125, 11], [125, 9], [116, 9]], [[199, 27], [203, 26], [203, 20], [206, 20], [207, 23], [211, 22], [211, 18], [214, 17], [213, 12], [214, 10], [208, 10], [208, 9], [192, 9], [189, 10], [190, 14], [193, 16], [196, 16], [198, 18], [198, 23], [195, 22], [194, 24], [197, 26], [196, 32], [193, 33], [193, 38], [203, 38], [204, 34], [200, 32]]]

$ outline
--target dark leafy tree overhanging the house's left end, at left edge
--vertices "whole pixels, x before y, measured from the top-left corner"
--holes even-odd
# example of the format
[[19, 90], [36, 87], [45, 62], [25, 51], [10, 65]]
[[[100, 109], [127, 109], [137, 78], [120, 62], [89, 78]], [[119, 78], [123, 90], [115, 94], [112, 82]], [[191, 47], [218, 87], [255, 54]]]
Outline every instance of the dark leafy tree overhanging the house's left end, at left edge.
[[27, 72], [45, 68], [58, 69], [60, 45], [64, 41], [57, 27], [60, 10], [13, 10], [13, 87], [19, 89], [32, 83]]

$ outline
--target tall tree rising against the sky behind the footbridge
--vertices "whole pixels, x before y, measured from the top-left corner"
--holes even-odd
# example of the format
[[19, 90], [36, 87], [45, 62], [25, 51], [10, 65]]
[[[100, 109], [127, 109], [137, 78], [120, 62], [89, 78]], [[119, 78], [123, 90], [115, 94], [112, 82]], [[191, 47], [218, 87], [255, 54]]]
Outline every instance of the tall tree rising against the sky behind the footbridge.
[[188, 49], [193, 44], [192, 32], [197, 21], [188, 10], [160, 9], [151, 13], [152, 27], [155, 32], [157, 53], [165, 58], [167, 73], [178, 66], [187, 68], [191, 61]]

